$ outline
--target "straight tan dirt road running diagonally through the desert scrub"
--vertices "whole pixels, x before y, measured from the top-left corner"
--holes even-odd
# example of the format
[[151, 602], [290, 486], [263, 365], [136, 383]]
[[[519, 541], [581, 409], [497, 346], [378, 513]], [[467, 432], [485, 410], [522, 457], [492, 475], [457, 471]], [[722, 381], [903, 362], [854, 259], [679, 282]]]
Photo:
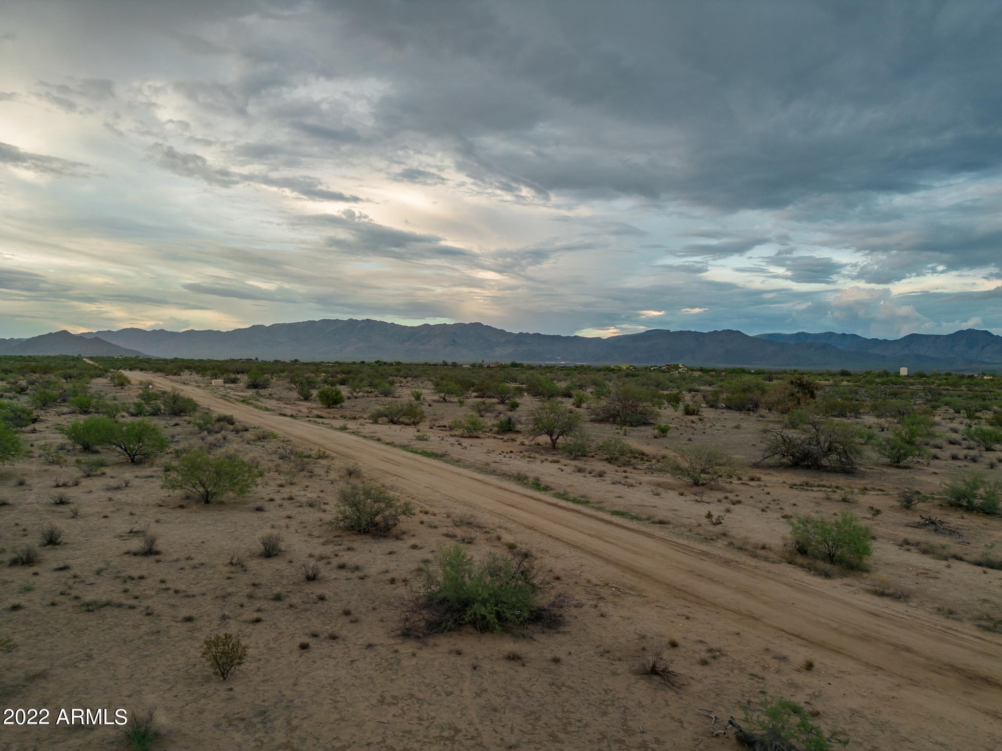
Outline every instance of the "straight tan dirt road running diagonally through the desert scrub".
[[[819, 660], [859, 676], [883, 675], [916, 713], [933, 713], [968, 729], [1002, 735], [1002, 640], [933, 615], [882, 609], [831, 583], [785, 576], [788, 567], [728, 555], [668, 538], [642, 525], [410, 454], [351, 434], [262, 412], [197, 387], [146, 372], [127, 373], [177, 389], [225, 412], [370, 469], [417, 498], [446, 498], [541, 533], [623, 572], [645, 594], [681, 598], [734, 631], [782, 633], [809, 646]], [[830, 663], [832, 664], [832, 663]], [[898, 718], [907, 723], [907, 718]], [[997, 735], [998, 734], [998, 735]], [[989, 746], [985, 746], [988, 748]]]

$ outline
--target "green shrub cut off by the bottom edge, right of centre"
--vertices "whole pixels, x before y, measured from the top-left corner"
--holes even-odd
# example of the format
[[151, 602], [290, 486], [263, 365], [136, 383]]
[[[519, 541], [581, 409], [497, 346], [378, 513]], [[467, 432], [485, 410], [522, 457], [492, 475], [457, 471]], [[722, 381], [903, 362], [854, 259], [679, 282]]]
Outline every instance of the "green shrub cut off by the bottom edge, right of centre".
[[826, 735], [811, 721], [808, 711], [789, 699], [769, 696], [758, 711], [742, 706], [744, 718], [735, 734], [738, 743], [753, 751], [832, 751], [833, 743], [848, 741], [837, 733]]

